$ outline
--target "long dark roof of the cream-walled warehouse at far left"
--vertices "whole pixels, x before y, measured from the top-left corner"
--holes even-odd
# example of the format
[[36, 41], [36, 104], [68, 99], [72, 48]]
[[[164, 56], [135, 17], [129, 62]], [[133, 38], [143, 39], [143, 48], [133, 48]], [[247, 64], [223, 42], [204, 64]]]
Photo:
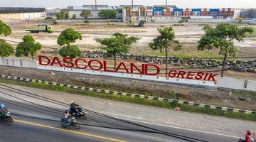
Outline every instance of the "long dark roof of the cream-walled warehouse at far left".
[[45, 8], [32, 7], [0, 7], [0, 13], [34, 13], [46, 12]]

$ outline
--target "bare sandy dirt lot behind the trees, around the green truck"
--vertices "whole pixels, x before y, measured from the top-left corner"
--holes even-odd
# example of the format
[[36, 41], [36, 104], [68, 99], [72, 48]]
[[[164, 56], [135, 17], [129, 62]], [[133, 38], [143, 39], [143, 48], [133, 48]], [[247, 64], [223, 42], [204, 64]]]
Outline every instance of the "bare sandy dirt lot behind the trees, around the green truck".
[[[8, 24], [11, 26], [13, 33], [5, 39], [21, 41], [23, 35], [28, 34], [25, 29], [35, 28], [38, 23], [45, 23], [45, 21], [9, 22]], [[183, 50], [176, 53], [176, 55], [193, 57], [218, 56], [217, 50], [199, 51], [196, 49], [197, 41], [204, 33], [202, 28], [205, 24], [203, 23], [186, 23], [184, 26], [174, 26], [174, 23], [146, 23], [144, 28], [129, 27], [126, 23], [58, 23], [58, 25], [48, 23], [48, 25], [53, 27], [55, 30], [54, 33], [33, 33], [34, 38], [46, 46], [58, 47], [56, 42], [58, 35], [65, 28], [74, 28], [80, 31], [83, 39], [78, 40], [75, 44], [80, 45], [81, 48], [90, 49], [95, 49], [99, 46], [99, 44], [95, 42], [95, 38], [103, 38], [112, 33], [120, 32], [141, 37], [142, 39], [133, 46], [131, 53], [148, 55], [161, 55], [158, 52], [150, 50], [148, 46], [149, 42], [158, 35], [156, 28], [161, 26], [173, 26], [174, 31], [176, 31], [176, 38], [180, 40], [183, 45]], [[238, 56], [254, 56], [256, 54], [256, 35], [245, 38], [245, 41], [242, 43], [235, 42], [235, 45], [239, 50]]]

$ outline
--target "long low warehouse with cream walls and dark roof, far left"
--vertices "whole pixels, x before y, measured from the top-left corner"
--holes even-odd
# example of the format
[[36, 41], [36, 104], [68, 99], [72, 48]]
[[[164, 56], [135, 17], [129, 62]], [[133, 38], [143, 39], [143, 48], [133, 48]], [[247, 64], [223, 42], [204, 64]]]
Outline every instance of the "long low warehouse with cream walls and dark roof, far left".
[[46, 18], [45, 8], [0, 7], [0, 19], [39, 19]]

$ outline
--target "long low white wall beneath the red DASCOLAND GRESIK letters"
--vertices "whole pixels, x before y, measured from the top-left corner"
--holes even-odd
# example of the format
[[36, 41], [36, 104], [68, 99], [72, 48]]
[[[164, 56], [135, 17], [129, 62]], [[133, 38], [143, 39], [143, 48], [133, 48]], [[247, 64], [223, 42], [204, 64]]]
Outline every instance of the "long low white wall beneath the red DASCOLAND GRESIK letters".
[[81, 73], [87, 75], [103, 75], [110, 77], [122, 77], [129, 78], [133, 80], [146, 80], [154, 82], [165, 82], [165, 83], [174, 83], [174, 84], [186, 84], [188, 86], [201, 86], [201, 87], [210, 87], [210, 88], [227, 88], [227, 89], [238, 89], [245, 91], [256, 92], [256, 81], [253, 80], [242, 80], [242, 79], [233, 79], [227, 77], [218, 77], [217, 82], [208, 82], [202, 80], [186, 80], [186, 79], [177, 79], [177, 78], [166, 78], [166, 77], [157, 77], [150, 75], [135, 75], [127, 74], [120, 72], [103, 72], [95, 70], [82, 70], [76, 68], [65, 68], [65, 67], [50, 67], [38, 65], [36, 61], [33, 60], [17, 60], [17, 59], [0, 59], [0, 65], [4, 66], [14, 66], [14, 67], [28, 67], [35, 68], [39, 70], [53, 70], [58, 72], [73, 72]]

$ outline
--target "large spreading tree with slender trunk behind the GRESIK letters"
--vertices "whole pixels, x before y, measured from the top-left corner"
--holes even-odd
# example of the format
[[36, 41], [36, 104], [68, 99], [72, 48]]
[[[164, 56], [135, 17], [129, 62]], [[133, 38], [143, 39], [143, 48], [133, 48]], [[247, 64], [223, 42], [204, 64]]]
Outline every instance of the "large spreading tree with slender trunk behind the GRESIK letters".
[[212, 50], [213, 48], [220, 50], [219, 55], [224, 56], [221, 72], [221, 77], [223, 77], [228, 55], [235, 57], [238, 54], [233, 40], [242, 42], [245, 35], [253, 33], [254, 29], [252, 27], [240, 28], [232, 23], [219, 23], [215, 28], [204, 26], [203, 31], [206, 34], [198, 41], [198, 50]]

